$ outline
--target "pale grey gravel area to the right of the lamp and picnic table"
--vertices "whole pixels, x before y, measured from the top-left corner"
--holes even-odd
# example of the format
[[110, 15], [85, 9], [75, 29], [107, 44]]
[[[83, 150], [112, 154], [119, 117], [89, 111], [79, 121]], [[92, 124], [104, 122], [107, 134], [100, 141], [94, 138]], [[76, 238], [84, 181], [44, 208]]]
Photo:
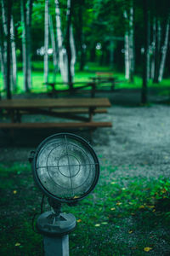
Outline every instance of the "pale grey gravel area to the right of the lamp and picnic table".
[[114, 177], [168, 177], [169, 116], [170, 108], [163, 105], [112, 107], [105, 119], [112, 122], [112, 129], [94, 133], [94, 144], [101, 155], [102, 165], [106, 159], [109, 165], [119, 166]]

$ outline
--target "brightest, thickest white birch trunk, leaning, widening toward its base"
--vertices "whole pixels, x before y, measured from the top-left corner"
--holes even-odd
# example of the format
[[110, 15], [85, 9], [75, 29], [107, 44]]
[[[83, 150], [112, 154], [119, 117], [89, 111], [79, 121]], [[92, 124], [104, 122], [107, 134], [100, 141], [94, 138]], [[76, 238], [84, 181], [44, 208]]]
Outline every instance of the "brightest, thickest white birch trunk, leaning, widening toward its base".
[[62, 79], [65, 83], [68, 83], [68, 59], [66, 49], [63, 47], [63, 36], [61, 32], [61, 21], [59, 12], [59, 1], [55, 0], [55, 17], [56, 17], [56, 29], [57, 29], [57, 43], [59, 49], [59, 69]]

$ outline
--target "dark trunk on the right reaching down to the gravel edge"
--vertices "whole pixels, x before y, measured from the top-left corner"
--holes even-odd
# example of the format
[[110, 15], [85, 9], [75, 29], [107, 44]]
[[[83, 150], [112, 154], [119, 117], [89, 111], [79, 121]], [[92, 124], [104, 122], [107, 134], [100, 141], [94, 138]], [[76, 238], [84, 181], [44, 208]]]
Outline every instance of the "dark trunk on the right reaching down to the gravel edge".
[[148, 1], [143, 0], [144, 3], [144, 66], [143, 66], [143, 85], [141, 93], [141, 102], [147, 103], [147, 73], [148, 73], [148, 55], [149, 55], [149, 13]]

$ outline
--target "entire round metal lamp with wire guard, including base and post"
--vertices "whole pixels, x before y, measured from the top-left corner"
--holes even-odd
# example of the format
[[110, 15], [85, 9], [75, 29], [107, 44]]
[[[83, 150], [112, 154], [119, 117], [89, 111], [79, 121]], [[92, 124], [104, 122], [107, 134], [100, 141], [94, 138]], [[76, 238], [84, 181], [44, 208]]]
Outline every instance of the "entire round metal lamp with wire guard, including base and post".
[[[99, 179], [98, 157], [82, 137], [59, 133], [40, 143], [31, 155], [31, 163], [35, 182], [53, 207], [53, 211], [37, 218], [37, 230], [44, 236], [44, 246], [55, 248], [57, 242], [57, 255], [69, 255], [62, 252], [63, 242], [68, 251], [68, 234], [76, 227], [76, 218], [71, 213], [61, 213], [60, 206], [77, 203], [94, 189]], [[55, 245], [50, 236], [58, 236]], [[49, 247], [45, 250], [50, 255]]]

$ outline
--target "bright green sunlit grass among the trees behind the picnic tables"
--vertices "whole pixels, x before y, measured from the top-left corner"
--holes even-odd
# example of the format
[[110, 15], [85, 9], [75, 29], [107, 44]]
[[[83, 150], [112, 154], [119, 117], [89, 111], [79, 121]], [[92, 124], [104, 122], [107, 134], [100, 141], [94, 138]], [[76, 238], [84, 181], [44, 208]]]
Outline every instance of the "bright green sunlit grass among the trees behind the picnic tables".
[[[43, 85], [43, 62], [42, 61], [34, 61], [32, 62], [32, 87], [31, 91], [32, 92], [46, 92], [47, 90], [50, 90], [51, 88], [47, 88], [45, 85]], [[53, 65], [52, 62], [49, 62], [49, 82], [53, 81]], [[87, 66], [84, 68], [83, 72], [78, 71], [78, 67], [76, 67], [76, 73], [75, 73], [75, 82], [88, 82], [90, 77], [95, 76], [96, 72], [105, 72], [105, 71], [110, 71], [110, 67], [99, 67], [96, 63], [88, 63]], [[139, 76], [134, 76], [134, 81], [133, 83], [129, 83], [125, 77], [124, 73], [115, 73], [115, 77], [117, 80], [121, 81], [120, 84], [116, 84], [117, 88], [127, 88], [127, 89], [137, 89], [141, 88], [142, 86], [142, 79]], [[18, 72], [18, 93], [24, 92], [23, 89], [23, 84], [24, 84], [24, 79], [23, 79], [23, 73], [21, 71], [21, 64], [19, 63], [19, 72]], [[62, 82], [61, 76], [58, 73], [57, 82]], [[170, 79], [163, 79], [160, 84], [153, 84], [152, 81], [150, 80], [148, 83], [149, 87], [167, 87], [167, 89], [170, 87]], [[66, 85], [57, 85], [57, 89], [67, 89]], [[2, 74], [0, 73], [0, 90], [3, 89], [3, 78]], [[165, 90], [163, 94], [168, 94], [168, 90]]]

